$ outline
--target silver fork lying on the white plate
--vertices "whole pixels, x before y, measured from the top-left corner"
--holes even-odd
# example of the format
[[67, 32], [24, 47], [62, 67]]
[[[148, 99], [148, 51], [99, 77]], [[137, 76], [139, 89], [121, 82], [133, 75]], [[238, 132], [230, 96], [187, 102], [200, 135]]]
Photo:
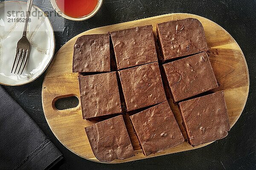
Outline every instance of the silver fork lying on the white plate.
[[[22, 74], [22, 72], [26, 66], [28, 57], [29, 57], [31, 45], [29, 43], [29, 40], [26, 37], [26, 33], [27, 33], [29, 15], [30, 15], [30, 11], [32, 8], [32, 4], [33, 4], [33, 0], [28, 0], [27, 5], [26, 5], [26, 19], [25, 19], [25, 25], [24, 25], [24, 29], [23, 29], [23, 35], [20, 38], [20, 40], [17, 42], [17, 48], [16, 48], [16, 52], [15, 52], [13, 65], [12, 65], [11, 73], [13, 72], [13, 70], [15, 68], [14, 74], [16, 73], [17, 68], [19, 68], [17, 74], [19, 74], [21, 68], [22, 69], [21, 69], [20, 75]], [[15, 65], [16, 65], [16, 67], [15, 67]]]

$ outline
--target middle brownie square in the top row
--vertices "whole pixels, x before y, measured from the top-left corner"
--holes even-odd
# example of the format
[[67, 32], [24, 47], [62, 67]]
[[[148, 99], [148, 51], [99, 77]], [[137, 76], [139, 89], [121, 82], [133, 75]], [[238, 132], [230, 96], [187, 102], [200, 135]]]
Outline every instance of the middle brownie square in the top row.
[[117, 69], [157, 61], [152, 26], [111, 32]]

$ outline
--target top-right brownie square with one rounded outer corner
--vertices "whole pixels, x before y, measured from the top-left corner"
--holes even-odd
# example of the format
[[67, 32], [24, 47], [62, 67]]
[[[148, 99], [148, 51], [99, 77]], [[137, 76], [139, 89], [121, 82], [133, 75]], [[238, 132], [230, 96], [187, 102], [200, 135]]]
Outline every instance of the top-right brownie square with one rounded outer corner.
[[157, 34], [164, 61], [208, 50], [204, 28], [195, 18], [157, 24]]

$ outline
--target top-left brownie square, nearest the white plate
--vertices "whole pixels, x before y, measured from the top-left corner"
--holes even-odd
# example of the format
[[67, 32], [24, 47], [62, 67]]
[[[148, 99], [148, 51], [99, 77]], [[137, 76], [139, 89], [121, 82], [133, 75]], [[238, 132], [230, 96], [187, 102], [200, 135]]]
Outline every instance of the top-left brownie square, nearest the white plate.
[[83, 35], [76, 40], [73, 72], [110, 71], [109, 34]]

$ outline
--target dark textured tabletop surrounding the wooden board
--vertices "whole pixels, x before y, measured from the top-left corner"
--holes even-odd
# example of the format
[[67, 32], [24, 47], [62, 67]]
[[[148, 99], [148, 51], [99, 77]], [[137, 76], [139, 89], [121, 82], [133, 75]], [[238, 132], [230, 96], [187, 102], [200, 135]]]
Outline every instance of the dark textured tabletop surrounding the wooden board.
[[[3, 0], [0, 0], [3, 2]], [[53, 11], [49, 0], [34, 0], [44, 11]], [[206, 147], [182, 153], [132, 161], [100, 164], [76, 156], [55, 138], [44, 117], [41, 87], [44, 74], [28, 85], [4, 88], [25, 109], [63, 153], [58, 170], [80, 169], [169, 169], [169, 170], [255, 170], [256, 169], [256, 1], [255, 0], [103, 0], [99, 12], [86, 21], [74, 22], [49, 17], [55, 30], [57, 51], [77, 34], [100, 26], [122, 23], [161, 14], [197, 14], [218, 23], [238, 42], [250, 72], [250, 91], [237, 123], [229, 135]]]

